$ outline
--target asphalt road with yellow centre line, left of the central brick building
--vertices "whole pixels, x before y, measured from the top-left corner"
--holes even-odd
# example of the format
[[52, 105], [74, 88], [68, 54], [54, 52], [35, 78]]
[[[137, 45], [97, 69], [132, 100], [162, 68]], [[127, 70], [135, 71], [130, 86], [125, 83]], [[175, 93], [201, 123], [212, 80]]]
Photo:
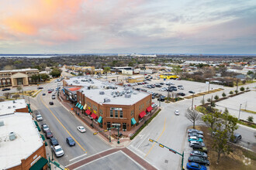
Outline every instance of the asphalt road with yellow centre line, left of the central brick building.
[[[69, 165], [81, 158], [111, 148], [105, 141], [102, 141], [99, 136], [94, 136], [92, 131], [86, 128], [85, 124], [62, 107], [57, 99], [53, 100], [54, 105], [49, 104], [51, 94], [47, 93], [47, 89], [56, 87], [57, 83], [48, 84], [36, 98], [30, 98], [30, 104], [32, 104], [33, 108], [36, 107], [36, 110], [40, 111], [43, 116], [43, 121], [41, 121], [40, 124], [47, 123], [49, 125], [50, 130], [53, 131], [54, 137], [57, 138], [65, 152], [63, 157], [57, 158], [57, 161], [60, 162], [61, 165]], [[42, 96], [42, 93], [46, 93], [46, 96]], [[87, 131], [85, 133], [81, 133], [77, 130], [77, 127], [80, 125], [86, 128]], [[66, 138], [68, 136], [74, 138], [76, 141], [75, 146], [70, 147], [67, 145]], [[47, 143], [50, 144], [50, 141], [47, 140]]]

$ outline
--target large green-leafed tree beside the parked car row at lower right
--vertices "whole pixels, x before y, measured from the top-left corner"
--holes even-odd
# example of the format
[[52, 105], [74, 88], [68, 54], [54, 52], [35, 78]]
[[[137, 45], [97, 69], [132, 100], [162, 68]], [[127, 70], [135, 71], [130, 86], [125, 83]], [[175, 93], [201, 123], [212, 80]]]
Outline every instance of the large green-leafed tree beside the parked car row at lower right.
[[228, 144], [229, 140], [234, 140], [234, 131], [237, 129], [237, 117], [234, 117], [228, 113], [226, 109], [220, 117], [220, 121], [216, 123], [216, 127], [213, 128], [215, 132], [213, 136], [213, 149], [218, 154], [217, 162], [220, 162], [221, 154], [229, 154], [231, 149]]

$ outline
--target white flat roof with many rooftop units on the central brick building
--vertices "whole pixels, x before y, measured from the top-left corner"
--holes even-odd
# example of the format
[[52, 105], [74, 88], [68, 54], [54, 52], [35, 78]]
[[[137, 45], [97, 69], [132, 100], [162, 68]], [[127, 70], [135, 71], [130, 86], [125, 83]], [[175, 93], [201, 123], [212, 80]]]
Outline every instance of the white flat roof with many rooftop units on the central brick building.
[[[68, 85], [82, 86], [79, 91], [85, 94], [85, 97], [94, 100], [98, 104], [132, 105], [150, 95], [147, 92], [133, 90], [131, 87], [123, 87], [108, 81], [96, 80], [90, 76], [72, 76], [70, 80], [65, 81]], [[108, 87], [109, 89], [107, 89]], [[113, 90], [110, 87], [115, 89]], [[126, 98], [126, 96], [130, 97]], [[105, 102], [105, 99], [110, 101]]]

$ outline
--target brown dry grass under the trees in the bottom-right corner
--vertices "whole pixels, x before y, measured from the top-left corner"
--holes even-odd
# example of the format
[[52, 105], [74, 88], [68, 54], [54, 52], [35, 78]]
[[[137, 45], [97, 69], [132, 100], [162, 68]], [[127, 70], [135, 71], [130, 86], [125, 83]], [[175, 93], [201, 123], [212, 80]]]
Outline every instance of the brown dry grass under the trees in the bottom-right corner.
[[[233, 152], [229, 155], [220, 155], [220, 163], [217, 164], [218, 155], [216, 151], [211, 147], [213, 145], [213, 138], [209, 134], [209, 130], [206, 127], [199, 127], [199, 130], [204, 133], [204, 143], [208, 148], [209, 169], [210, 170], [253, 170], [256, 167], [256, 153], [247, 151], [244, 148], [240, 148], [237, 145], [232, 145]], [[246, 155], [246, 156], [245, 156]], [[250, 158], [250, 159], [248, 159]], [[249, 161], [250, 160], [250, 161]], [[245, 163], [244, 163], [245, 162]], [[249, 165], [245, 165], [248, 163]]]

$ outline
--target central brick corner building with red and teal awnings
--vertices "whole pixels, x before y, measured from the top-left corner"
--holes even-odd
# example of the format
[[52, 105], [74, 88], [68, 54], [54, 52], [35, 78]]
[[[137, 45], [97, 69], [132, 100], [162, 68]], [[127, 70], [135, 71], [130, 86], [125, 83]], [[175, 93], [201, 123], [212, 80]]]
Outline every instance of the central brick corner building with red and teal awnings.
[[102, 128], [120, 127], [130, 131], [150, 113], [151, 94], [121, 87], [89, 76], [70, 77], [65, 86], [81, 86], [76, 107]]

